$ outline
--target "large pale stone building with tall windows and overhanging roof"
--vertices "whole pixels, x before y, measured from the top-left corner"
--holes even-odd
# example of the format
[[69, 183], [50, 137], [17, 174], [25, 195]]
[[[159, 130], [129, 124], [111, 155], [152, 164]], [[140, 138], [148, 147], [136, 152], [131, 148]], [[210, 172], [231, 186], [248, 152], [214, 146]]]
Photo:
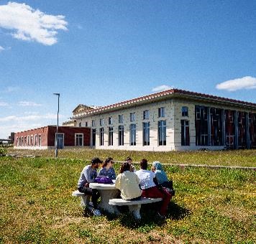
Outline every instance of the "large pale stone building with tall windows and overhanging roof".
[[78, 105], [96, 149], [173, 151], [256, 148], [256, 104], [170, 89], [120, 103]]

